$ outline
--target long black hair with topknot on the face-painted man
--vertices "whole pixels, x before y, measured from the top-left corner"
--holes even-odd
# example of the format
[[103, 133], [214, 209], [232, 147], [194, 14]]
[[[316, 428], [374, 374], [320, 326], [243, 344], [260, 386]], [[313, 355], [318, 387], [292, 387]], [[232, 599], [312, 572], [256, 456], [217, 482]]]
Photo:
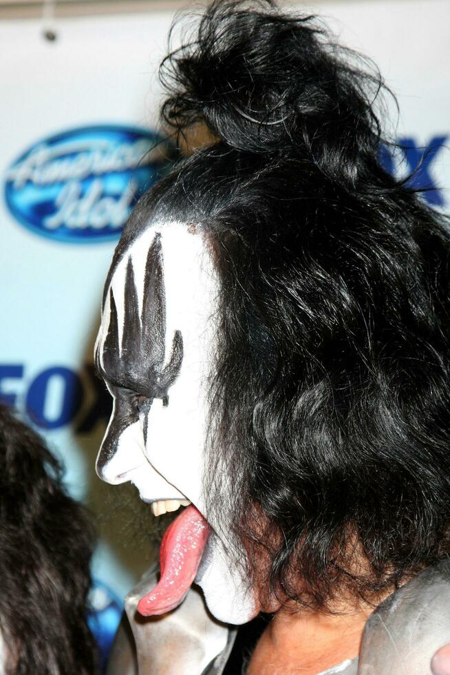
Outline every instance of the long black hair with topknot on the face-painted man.
[[450, 551], [447, 222], [381, 167], [383, 82], [316, 18], [215, 2], [161, 74], [164, 120], [216, 142], [142, 198], [116, 255], [149, 221], [208, 231], [211, 508], [266, 592], [370, 599]]

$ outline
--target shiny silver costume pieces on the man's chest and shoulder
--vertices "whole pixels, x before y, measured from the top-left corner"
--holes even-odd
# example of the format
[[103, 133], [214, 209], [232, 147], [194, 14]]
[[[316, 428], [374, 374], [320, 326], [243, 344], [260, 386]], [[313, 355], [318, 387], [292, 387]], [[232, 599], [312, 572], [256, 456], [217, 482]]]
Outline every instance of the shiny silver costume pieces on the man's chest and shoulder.
[[[237, 630], [213, 619], [193, 587], [163, 617], [136, 614], [140, 596], [156, 585], [153, 568], [125, 599], [131, 626], [121, 625], [107, 675], [221, 675]], [[429, 675], [433, 654], [450, 641], [450, 559], [398, 589], [369, 616], [359, 659], [319, 675]], [[136, 647], [135, 647], [136, 645]], [[238, 674], [237, 674], [238, 675]]]

